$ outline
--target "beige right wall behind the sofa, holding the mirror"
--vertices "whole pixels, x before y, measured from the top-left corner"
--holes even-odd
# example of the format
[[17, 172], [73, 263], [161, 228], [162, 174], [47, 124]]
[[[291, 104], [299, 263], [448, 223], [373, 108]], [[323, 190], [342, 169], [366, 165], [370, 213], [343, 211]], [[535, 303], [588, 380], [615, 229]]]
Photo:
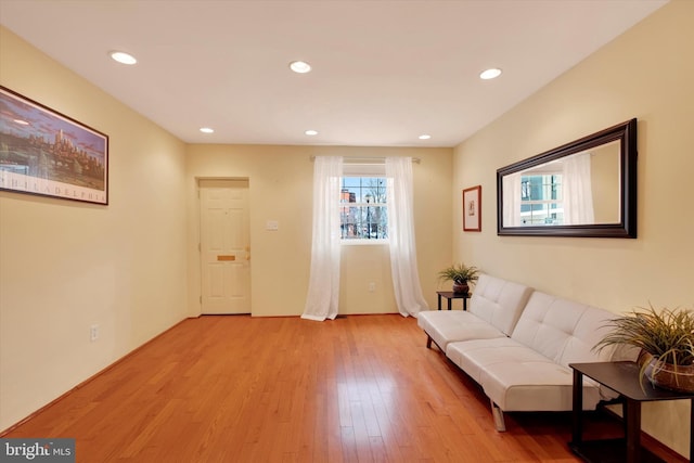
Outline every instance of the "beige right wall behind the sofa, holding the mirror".
[[[692, 307], [694, 2], [673, 1], [457, 147], [453, 196], [483, 185], [481, 233], [454, 255], [493, 274], [604, 307]], [[512, 69], [502, 78], [513, 78]], [[496, 170], [639, 119], [637, 240], [496, 233]], [[453, 207], [454, 223], [460, 210]], [[648, 403], [644, 429], [689, 454], [689, 404]]]

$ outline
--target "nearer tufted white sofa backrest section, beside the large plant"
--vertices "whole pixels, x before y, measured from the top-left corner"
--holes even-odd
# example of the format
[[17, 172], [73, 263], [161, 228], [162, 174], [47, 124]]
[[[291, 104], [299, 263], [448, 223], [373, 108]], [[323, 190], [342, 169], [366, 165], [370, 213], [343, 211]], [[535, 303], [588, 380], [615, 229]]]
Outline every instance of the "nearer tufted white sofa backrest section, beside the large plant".
[[556, 363], [601, 362], [613, 360], [614, 349], [593, 347], [617, 316], [573, 300], [534, 292], [511, 337], [539, 351]]

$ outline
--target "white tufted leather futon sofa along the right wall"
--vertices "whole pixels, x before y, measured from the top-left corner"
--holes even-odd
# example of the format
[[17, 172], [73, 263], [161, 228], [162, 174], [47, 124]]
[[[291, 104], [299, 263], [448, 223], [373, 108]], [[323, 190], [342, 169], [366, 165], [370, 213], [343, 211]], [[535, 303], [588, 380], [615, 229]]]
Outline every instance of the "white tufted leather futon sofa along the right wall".
[[[617, 360], [613, 350], [593, 346], [615, 318], [606, 310], [532, 291], [491, 275], [479, 276], [468, 311], [425, 311], [419, 325], [453, 363], [489, 397], [498, 430], [504, 411], [571, 410], [569, 363]], [[619, 359], [633, 360], [632, 352]], [[613, 398], [583, 380], [583, 408]]]

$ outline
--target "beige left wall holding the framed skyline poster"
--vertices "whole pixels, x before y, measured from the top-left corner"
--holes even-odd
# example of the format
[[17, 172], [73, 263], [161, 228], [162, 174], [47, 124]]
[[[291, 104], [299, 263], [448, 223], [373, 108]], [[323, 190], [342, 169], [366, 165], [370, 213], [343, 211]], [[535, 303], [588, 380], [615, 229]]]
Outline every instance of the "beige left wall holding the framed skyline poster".
[[0, 192], [4, 429], [185, 317], [187, 217], [179, 140], [4, 28], [0, 85], [111, 151], [107, 206]]

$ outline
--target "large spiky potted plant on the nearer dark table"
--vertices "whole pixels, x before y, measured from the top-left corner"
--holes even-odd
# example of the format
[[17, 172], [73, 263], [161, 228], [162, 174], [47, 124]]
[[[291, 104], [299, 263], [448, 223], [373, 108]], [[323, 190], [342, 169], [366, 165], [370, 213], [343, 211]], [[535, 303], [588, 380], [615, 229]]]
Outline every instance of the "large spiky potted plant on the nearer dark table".
[[641, 349], [640, 377], [655, 386], [694, 391], [694, 310], [639, 308], [611, 320], [596, 349], [627, 345]]

